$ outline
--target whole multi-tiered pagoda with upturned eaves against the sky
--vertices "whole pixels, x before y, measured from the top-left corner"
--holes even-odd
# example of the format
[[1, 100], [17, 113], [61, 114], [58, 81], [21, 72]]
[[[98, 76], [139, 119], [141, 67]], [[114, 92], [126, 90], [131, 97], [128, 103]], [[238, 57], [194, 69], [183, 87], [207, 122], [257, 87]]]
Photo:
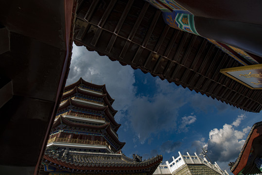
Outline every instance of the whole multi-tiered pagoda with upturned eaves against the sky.
[[162, 162], [126, 157], [119, 141], [114, 100], [105, 85], [80, 78], [67, 86], [58, 108], [39, 175], [139, 174], [152, 175]]

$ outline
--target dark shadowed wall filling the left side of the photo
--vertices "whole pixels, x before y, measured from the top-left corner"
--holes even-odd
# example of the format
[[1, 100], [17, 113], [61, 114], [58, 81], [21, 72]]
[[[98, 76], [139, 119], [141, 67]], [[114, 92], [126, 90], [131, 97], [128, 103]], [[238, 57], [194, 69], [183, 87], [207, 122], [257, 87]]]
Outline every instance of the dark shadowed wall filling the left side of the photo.
[[37, 174], [69, 73], [76, 0], [0, 1], [0, 172]]

